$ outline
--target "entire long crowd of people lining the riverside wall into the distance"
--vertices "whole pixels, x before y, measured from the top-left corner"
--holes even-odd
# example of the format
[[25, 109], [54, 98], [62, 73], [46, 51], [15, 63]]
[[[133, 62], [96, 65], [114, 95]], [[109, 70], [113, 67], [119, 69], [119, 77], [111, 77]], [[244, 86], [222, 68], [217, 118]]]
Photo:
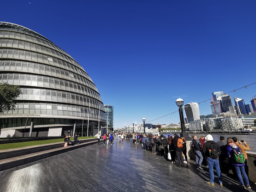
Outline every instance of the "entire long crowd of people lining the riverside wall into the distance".
[[[178, 167], [183, 167], [184, 163], [187, 163], [187, 142], [185, 137], [179, 137], [177, 134], [174, 136], [168, 135], [166, 138], [164, 135], [146, 135], [141, 133], [113, 133], [104, 134], [103, 143], [105, 140], [107, 145], [109, 140], [111, 145], [113, 140], [122, 142], [124, 139], [134, 143], [141, 144], [143, 151], [149, 151], [152, 154], [158, 152], [159, 155], [166, 158], [167, 161], [177, 164]], [[242, 143], [244, 145], [242, 145]], [[201, 136], [199, 139], [196, 135], [192, 136], [190, 147], [195, 153], [196, 168], [203, 169], [201, 165], [205, 165], [209, 170], [209, 180], [205, 181], [206, 184], [214, 186], [214, 167], [218, 175], [219, 185], [223, 186], [222, 174], [229, 174], [229, 170], [232, 169], [234, 175], [237, 175], [240, 181], [240, 187], [251, 188], [249, 184], [246, 150], [250, 150], [246, 141], [239, 141], [237, 137], [225, 138], [220, 137], [220, 141], [217, 143], [213, 141], [213, 137], [208, 134], [207, 136]], [[189, 149], [190, 150], [190, 149]], [[236, 154], [237, 152], [237, 154]], [[240, 155], [242, 161], [238, 161], [236, 158]], [[177, 159], [177, 163], [175, 160]], [[245, 180], [243, 181], [243, 178]]]

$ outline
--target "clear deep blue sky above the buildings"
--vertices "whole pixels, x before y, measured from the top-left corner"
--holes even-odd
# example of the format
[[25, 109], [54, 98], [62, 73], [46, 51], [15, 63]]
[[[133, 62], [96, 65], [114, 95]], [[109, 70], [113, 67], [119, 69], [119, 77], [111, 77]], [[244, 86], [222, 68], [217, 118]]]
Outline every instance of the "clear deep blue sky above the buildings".
[[[15, 0], [1, 7], [1, 21], [40, 33], [80, 63], [103, 103], [114, 106], [115, 129], [142, 118], [177, 124], [178, 112], [167, 114], [182, 95], [185, 104], [215, 91], [232, 91], [233, 104], [256, 95], [256, 1]], [[209, 101], [199, 110], [211, 114]]]

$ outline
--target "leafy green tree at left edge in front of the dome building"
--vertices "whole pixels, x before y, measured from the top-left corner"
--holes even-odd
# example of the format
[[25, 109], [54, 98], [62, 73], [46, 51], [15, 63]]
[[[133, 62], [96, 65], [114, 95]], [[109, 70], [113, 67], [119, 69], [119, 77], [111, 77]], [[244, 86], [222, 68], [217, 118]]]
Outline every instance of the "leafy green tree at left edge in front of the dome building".
[[14, 110], [17, 104], [15, 100], [21, 93], [18, 85], [0, 83], [0, 114]]

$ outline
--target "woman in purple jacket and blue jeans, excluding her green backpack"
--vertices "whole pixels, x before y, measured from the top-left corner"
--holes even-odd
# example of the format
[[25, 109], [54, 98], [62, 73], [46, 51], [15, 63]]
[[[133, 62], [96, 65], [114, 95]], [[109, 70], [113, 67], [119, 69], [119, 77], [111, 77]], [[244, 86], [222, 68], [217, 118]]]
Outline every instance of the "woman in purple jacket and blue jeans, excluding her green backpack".
[[[245, 173], [245, 170], [244, 170], [244, 163], [239, 163], [237, 162], [233, 157], [236, 155], [234, 154], [236, 150], [241, 150], [240, 147], [238, 147], [234, 141], [231, 139], [228, 139], [228, 146], [226, 147], [226, 150], [227, 150], [227, 155], [229, 157], [229, 159], [231, 159], [231, 164], [235, 167], [236, 171], [237, 171], [237, 176], [239, 178], [239, 181], [241, 183], [241, 185], [239, 185], [240, 187], [242, 187], [243, 189], [246, 189], [249, 188], [251, 189], [251, 186], [250, 186], [250, 183], [249, 183], [249, 179], [248, 179], [248, 176], [247, 174]], [[232, 156], [232, 157], [231, 157]], [[243, 174], [243, 177], [245, 179], [245, 182], [246, 182], [246, 186], [244, 185], [244, 182], [243, 182], [243, 178], [242, 178], [242, 174]]]

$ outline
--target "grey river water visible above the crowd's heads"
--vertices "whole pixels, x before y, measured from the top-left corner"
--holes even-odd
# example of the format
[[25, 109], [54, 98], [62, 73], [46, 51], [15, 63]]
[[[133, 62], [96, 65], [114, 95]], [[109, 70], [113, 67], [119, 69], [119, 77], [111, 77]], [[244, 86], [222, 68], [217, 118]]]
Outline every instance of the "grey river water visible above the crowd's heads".
[[[169, 134], [163, 134], [164, 136], [166, 136], [166, 138], [168, 137], [168, 135], [173, 136], [174, 133], [169, 133]], [[179, 134], [177, 134], [179, 135]], [[201, 135], [206, 136], [207, 134], [190, 134], [189, 136], [192, 135], [196, 135], [197, 138], [199, 139]], [[250, 147], [250, 152], [254, 152], [256, 153], [256, 135], [245, 135], [245, 134], [211, 134], [213, 137], [213, 140], [215, 142], [220, 140], [220, 136], [223, 136], [225, 138], [225, 142], [227, 142], [227, 138], [228, 137], [237, 137], [238, 140], [244, 140], [246, 141], [246, 143], [248, 144], [248, 146]], [[197, 140], [198, 141], [198, 140]], [[243, 144], [244, 145], [244, 144]]]

